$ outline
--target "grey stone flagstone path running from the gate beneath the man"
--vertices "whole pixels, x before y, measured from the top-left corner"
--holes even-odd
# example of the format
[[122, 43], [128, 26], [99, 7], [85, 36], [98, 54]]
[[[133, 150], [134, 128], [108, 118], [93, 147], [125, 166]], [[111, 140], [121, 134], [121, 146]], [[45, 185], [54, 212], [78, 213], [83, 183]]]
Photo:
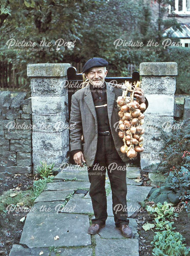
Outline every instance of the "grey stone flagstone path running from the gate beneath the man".
[[[48, 183], [36, 198], [27, 214], [20, 243], [13, 244], [9, 256], [139, 256], [137, 222], [132, 215], [140, 209], [139, 202], [146, 199], [152, 187], [135, 182], [138, 176], [138, 167], [127, 167], [127, 209], [133, 237], [124, 238], [115, 227], [107, 174], [106, 226], [99, 234], [88, 234], [89, 218], [94, 216], [87, 168], [73, 165], [56, 175], [54, 182]], [[54, 239], [56, 236], [59, 239]]]

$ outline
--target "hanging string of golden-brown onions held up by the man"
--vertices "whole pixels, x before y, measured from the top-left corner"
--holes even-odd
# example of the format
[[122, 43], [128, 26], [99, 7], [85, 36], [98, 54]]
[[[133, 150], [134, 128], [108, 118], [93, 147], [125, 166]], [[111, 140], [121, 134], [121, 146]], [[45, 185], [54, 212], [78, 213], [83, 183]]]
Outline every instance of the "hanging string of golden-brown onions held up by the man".
[[[123, 139], [124, 145], [121, 146], [120, 151], [127, 154], [129, 158], [137, 156], [138, 152], [144, 151], [143, 140], [144, 128], [144, 114], [141, 111], [146, 109], [146, 104], [139, 104], [139, 100], [134, 100], [134, 88], [141, 86], [141, 81], [137, 83], [129, 83], [125, 81], [125, 89], [122, 86], [122, 96], [117, 98], [117, 106], [119, 108], [119, 137]], [[127, 93], [130, 92], [130, 97]]]

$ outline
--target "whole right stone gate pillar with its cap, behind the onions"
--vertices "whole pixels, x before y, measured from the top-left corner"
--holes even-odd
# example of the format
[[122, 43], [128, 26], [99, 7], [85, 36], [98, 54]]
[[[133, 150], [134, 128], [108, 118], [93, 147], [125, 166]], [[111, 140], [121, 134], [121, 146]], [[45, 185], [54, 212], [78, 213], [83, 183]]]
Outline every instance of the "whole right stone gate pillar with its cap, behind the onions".
[[[164, 134], [171, 135], [174, 115], [176, 62], [142, 62], [142, 89], [148, 100], [145, 111], [145, 150], [140, 154], [141, 169], [159, 163], [165, 145]], [[155, 127], [156, 126], [156, 127]], [[160, 155], [159, 155], [160, 153]]]

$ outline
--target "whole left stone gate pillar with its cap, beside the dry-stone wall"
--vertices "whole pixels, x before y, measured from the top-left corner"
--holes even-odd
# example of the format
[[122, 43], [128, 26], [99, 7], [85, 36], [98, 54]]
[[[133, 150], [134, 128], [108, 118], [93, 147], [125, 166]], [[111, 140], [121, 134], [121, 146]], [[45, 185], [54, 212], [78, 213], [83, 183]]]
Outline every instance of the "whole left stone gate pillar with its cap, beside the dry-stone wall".
[[68, 95], [65, 80], [69, 63], [37, 63], [27, 66], [31, 77], [32, 170], [39, 161], [59, 167], [69, 150]]

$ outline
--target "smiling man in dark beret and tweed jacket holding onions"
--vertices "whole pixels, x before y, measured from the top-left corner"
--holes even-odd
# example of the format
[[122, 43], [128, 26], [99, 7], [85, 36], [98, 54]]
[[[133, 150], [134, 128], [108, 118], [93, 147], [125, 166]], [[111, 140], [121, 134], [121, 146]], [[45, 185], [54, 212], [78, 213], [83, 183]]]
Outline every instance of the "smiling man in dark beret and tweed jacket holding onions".
[[[83, 67], [89, 84], [72, 95], [70, 125], [74, 128], [70, 132], [71, 155], [74, 155], [76, 164], [82, 166], [82, 162], [86, 162], [88, 168], [89, 195], [95, 216], [88, 233], [97, 234], [107, 219], [107, 169], [115, 225], [124, 237], [131, 237], [126, 201], [126, 162], [129, 158], [120, 151], [123, 141], [117, 129], [119, 116], [116, 100], [123, 91], [105, 82], [107, 65], [108, 62], [102, 58], [91, 58]], [[135, 90], [134, 97], [148, 106], [141, 88]]]

